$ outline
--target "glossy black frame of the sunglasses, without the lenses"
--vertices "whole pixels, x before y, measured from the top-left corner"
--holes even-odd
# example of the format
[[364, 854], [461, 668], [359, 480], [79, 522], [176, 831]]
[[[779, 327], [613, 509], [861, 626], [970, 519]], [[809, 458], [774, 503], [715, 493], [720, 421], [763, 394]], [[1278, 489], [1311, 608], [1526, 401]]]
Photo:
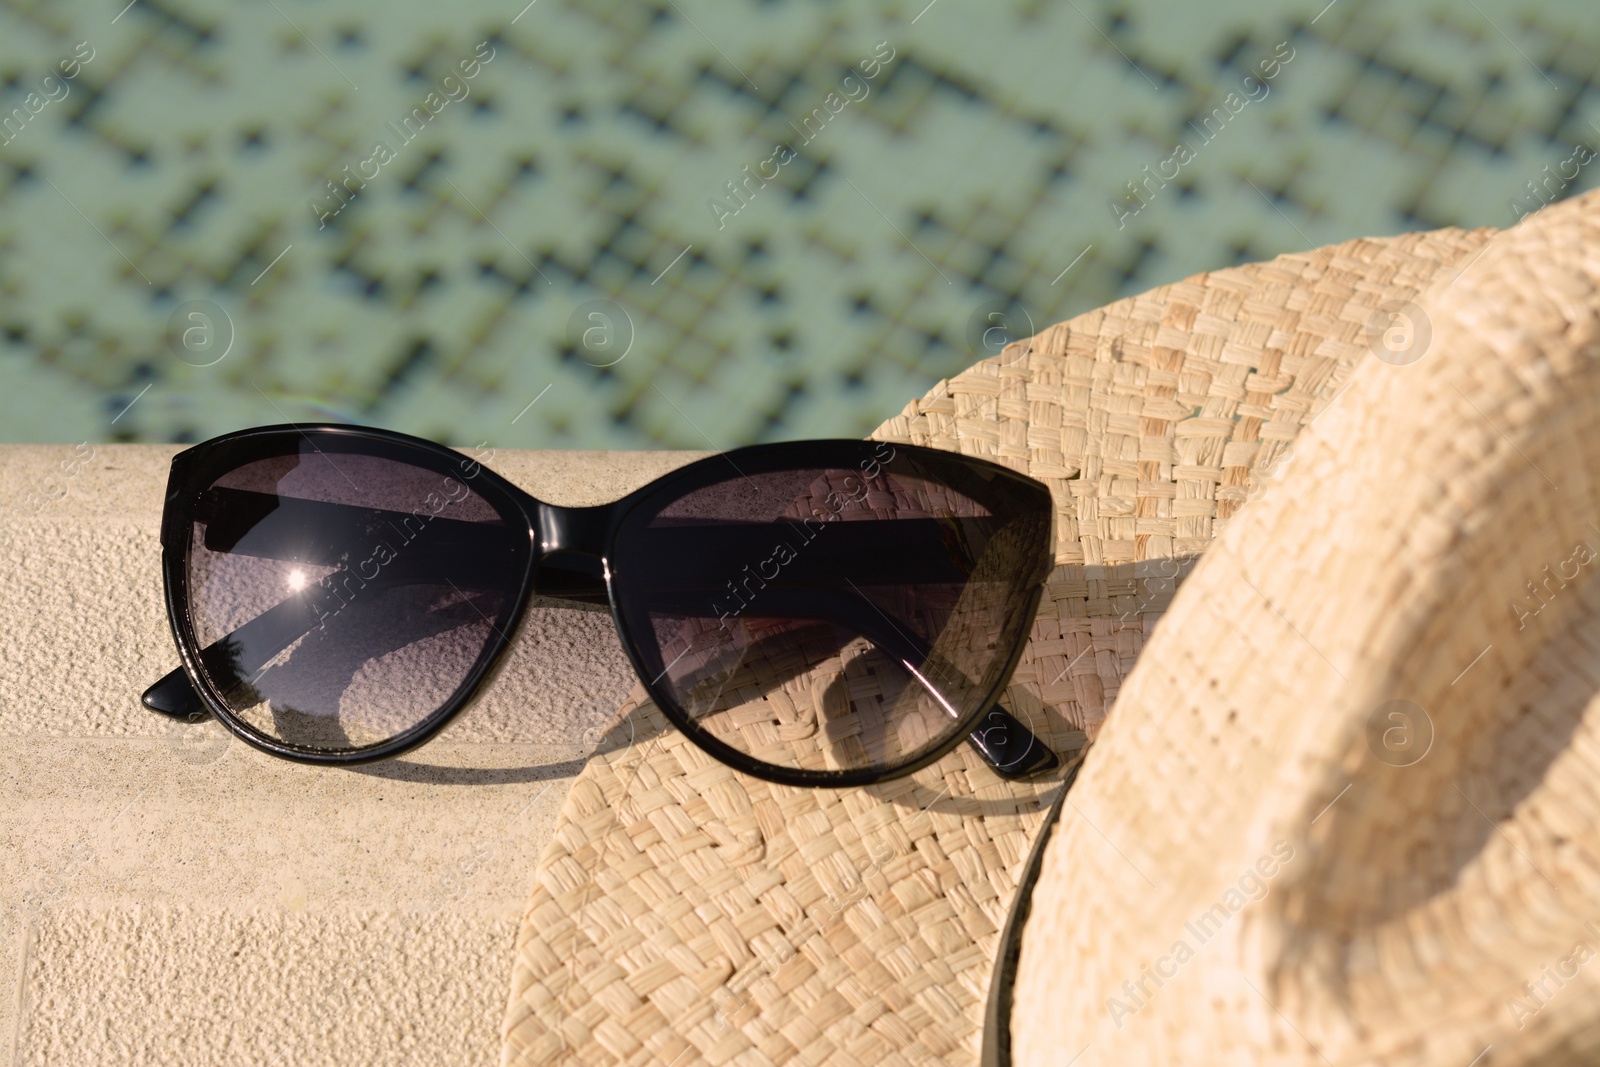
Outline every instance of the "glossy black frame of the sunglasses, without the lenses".
[[[349, 752], [288, 744], [258, 731], [229, 712], [227, 704], [213, 686], [206, 672], [200, 670], [202, 648], [189, 613], [189, 542], [197, 510], [206, 490], [229, 470], [258, 459], [299, 454], [306, 443], [315, 451], [389, 456], [442, 475], [467, 478], [472, 482], [472, 490], [494, 507], [514, 531], [518, 530], [518, 523], [528, 531], [526, 544], [520, 537], [517, 544], [515, 566], [522, 571], [518, 587], [506, 590], [509, 595], [499, 617], [494, 621], [494, 637], [485, 645], [456, 693], [438, 710], [411, 729], [381, 744]], [[875, 451], [885, 446], [890, 446], [896, 454], [904, 451], [914, 459], [920, 456], [925, 462], [944, 466], [947, 470], [965, 469], [990, 486], [998, 482], [1003, 491], [1029, 499], [1030, 507], [1038, 509], [1046, 518], [1046, 528], [1053, 528], [1054, 509], [1050, 490], [1026, 475], [984, 459], [962, 456], [960, 453], [917, 445], [885, 445], [883, 442], [872, 440], [752, 445], [678, 467], [611, 504], [560, 507], [539, 501], [462, 453], [435, 442], [392, 430], [342, 424], [291, 424], [253, 427], [211, 438], [173, 458], [166, 486], [166, 507], [162, 515], [162, 576], [166, 593], [166, 614], [179, 656], [182, 657], [182, 667], [146, 689], [142, 701], [150, 710], [187, 721], [198, 721], [210, 712], [211, 717], [218, 718], [234, 736], [246, 744], [299, 763], [352, 766], [392, 758], [438, 734], [472, 701], [485, 680], [493, 675], [494, 669], [504, 662], [504, 653], [510, 646], [510, 635], [515, 633], [528, 601], [533, 597], [554, 597], [590, 605], [610, 605], [611, 619], [629, 662], [656, 702], [656, 707], [704, 752], [754, 777], [784, 785], [870, 785], [928, 766], [949, 753], [963, 739], [970, 741], [984, 761], [1005, 777], [1022, 779], [1056, 769], [1059, 766], [1056, 753], [1045, 747], [997, 702], [1010, 683], [1016, 662], [1022, 654], [1022, 646], [1027, 643], [1027, 633], [1038, 608], [1040, 595], [1043, 593], [1045, 579], [1051, 569], [1053, 537], [1050, 536], [1045, 537], [1035, 573], [1027, 577], [1027, 589], [1030, 590], [1029, 603], [1024, 605], [1027, 624], [1021, 627], [1021, 635], [1014, 641], [1014, 648], [1008, 651], [1008, 659], [998, 680], [986, 693], [984, 699], [962, 717], [957, 728], [950, 731], [944, 742], [931, 745], [928, 750], [902, 763], [885, 768], [874, 766], [842, 771], [784, 768], [763, 763], [717, 741], [699, 728], [693, 718], [677, 707], [675, 699], [658, 685], [661, 678], [650, 678], [650, 665], [646, 665], [643, 653], [635, 643], [619, 600], [614, 595], [618, 565], [627, 563], [626, 560], [616, 560], [616, 537], [627, 515], [635, 507], [648, 506], [661, 498], [680, 498], [704, 485], [726, 482], [728, 466], [733, 466], [738, 474], [803, 469], [810, 466], [859, 467], [864, 470], [867, 462], [874, 459]], [[890, 462], [880, 454], [877, 459]], [[552, 557], [558, 557], [560, 561], [552, 563]], [[626, 566], [622, 569], [626, 571]], [[541, 582], [544, 571], [549, 571], [549, 574]], [[626, 581], [626, 574], [622, 581]], [[986, 723], [982, 729], [979, 729], [981, 721]], [[998, 742], [992, 737], [997, 731], [1002, 734]]]

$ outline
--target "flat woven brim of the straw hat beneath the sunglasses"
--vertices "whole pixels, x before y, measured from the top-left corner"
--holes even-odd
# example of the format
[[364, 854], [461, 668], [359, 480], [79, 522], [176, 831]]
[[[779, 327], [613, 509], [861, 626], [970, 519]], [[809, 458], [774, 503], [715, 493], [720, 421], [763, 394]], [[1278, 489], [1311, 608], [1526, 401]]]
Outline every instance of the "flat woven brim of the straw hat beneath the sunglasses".
[[[1006, 707], [1082, 752], [1194, 557], [1274, 491], [1358, 362], [1406, 358], [1395, 309], [1488, 237], [1357, 240], [1162, 286], [885, 422], [874, 437], [995, 459], [1056, 496], [1056, 571]], [[998, 931], [1059, 781], [1005, 782], [963, 745], [885, 785], [771, 785], [635, 694], [539, 859], [502, 1062], [976, 1064]]]

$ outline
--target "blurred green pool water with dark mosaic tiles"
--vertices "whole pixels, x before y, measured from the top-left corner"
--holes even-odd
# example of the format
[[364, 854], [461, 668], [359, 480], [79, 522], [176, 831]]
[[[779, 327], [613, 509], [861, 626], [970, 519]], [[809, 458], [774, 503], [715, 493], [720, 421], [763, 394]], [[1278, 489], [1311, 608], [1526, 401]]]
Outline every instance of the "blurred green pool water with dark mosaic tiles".
[[861, 435], [1115, 296], [1590, 187], [1587, 13], [11, 3], [0, 437]]

